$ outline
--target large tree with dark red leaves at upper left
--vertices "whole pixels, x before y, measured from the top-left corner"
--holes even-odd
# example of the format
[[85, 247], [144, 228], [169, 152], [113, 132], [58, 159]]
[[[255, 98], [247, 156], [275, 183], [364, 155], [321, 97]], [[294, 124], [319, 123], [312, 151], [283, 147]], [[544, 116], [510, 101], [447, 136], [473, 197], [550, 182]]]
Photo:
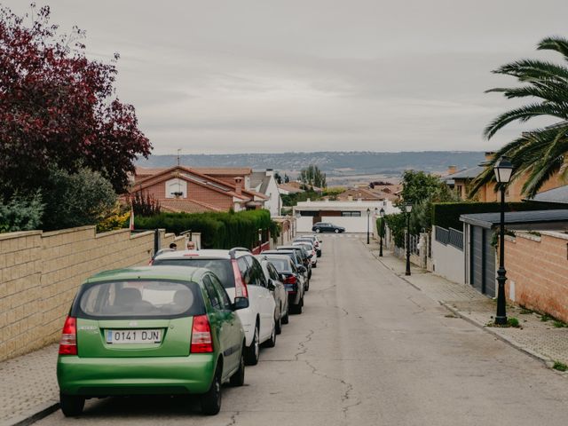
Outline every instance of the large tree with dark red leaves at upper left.
[[0, 195], [41, 188], [53, 168], [85, 167], [120, 193], [152, 146], [134, 107], [115, 97], [114, 61], [87, 59], [78, 28], [59, 36], [48, 6], [32, 11], [33, 20], [0, 9]]

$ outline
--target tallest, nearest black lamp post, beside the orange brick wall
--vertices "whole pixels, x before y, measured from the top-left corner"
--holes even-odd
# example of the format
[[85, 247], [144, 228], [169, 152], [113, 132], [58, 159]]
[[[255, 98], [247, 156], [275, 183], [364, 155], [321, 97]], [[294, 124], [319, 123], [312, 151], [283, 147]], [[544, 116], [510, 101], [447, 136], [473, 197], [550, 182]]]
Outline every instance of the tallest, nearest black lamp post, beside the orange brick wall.
[[507, 157], [501, 157], [499, 162], [495, 164], [495, 179], [497, 184], [501, 186], [501, 220], [499, 230], [499, 269], [497, 270], [497, 315], [495, 316], [495, 324], [507, 324], [507, 306], [505, 304], [505, 281], [507, 280], [507, 271], [505, 271], [505, 186], [509, 184], [511, 174], [513, 173], [513, 164]]

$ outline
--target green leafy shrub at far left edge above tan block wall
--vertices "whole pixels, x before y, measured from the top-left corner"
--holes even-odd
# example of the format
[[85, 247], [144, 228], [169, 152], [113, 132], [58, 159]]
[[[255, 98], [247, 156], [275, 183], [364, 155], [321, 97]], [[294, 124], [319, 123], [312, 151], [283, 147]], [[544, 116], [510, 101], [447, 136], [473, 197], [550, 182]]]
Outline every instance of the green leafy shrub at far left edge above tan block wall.
[[0, 233], [37, 229], [42, 215], [43, 203], [39, 191], [28, 197], [16, 193], [6, 202], [0, 198]]

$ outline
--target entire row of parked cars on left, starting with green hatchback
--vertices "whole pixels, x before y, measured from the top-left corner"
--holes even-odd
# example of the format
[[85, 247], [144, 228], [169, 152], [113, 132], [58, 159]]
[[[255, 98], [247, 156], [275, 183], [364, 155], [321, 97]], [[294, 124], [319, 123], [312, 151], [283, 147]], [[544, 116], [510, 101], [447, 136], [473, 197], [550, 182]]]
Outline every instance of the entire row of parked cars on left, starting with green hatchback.
[[308, 235], [257, 256], [167, 250], [149, 266], [94, 275], [59, 343], [63, 414], [81, 414], [86, 398], [155, 394], [197, 394], [217, 414], [222, 384], [241, 386], [260, 346], [275, 346], [289, 313], [303, 312], [318, 256]]

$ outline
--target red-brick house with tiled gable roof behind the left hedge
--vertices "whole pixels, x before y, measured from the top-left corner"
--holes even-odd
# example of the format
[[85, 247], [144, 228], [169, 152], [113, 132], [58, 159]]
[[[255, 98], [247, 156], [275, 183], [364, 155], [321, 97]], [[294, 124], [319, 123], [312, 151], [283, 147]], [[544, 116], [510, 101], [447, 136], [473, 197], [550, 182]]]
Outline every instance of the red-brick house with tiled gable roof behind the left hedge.
[[[137, 170], [138, 171], [138, 170]], [[168, 211], [241, 211], [263, 209], [267, 196], [243, 185], [243, 177], [227, 182], [185, 166], [137, 173], [130, 193], [149, 194]]]

